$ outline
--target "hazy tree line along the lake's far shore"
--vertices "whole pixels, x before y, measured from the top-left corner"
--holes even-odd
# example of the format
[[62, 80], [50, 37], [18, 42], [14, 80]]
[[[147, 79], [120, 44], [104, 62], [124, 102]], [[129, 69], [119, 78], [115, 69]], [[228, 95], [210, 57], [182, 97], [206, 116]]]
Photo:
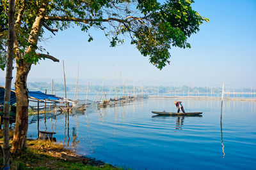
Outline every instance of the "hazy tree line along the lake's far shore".
[[[47, 89], [47, 94], [51, 93], [51, 89], [52, 89], [52, 84], [51, 83], [46, 83], [46, 82], [31, 82], [28, 83], [28, 89], [31, 91], [42, 91], [45, 92], [45, 89]], [[100, 85], [90, 85], [90, 92], [98, 92], [100, 89]], [[75, 92], [76, 90], [76, 85], [74, 84], [68, 84], [67, 85], [67, 92]], [[104, 86], [103, 90], [105, 92], [115, 92], [115, 86], [113, 85], [108, 85], [108, 86]], [[229, 92], [255, 92], [255, 89], [225, 89], [225, 90], [229, 90]], [[64, 92], [64, 85], [61, 83], [54, 83], [53, 86], [53, 94], [54, 92]], [[148, 94], [168, 94], [168, 93], [208, 93], [208, 94], [216, 94], [216, 93], [221, 93], [222, 92], [222, 87], [191, 87], [191, 86], [147, 86], [147, 85], [143, 85], [143, 86], [132, 86], [132, 85], [126, 85], [124, 87], [124, 85], [120, 86], [116, 86], [116, 92], [118, 92], [118, 94], [121, 92], [124, 92], [125, 94], [127, 94], [127, 92], [129, 93], [133, 93], [133, 91], [138, 94], [138, 93], [148, 93]], [[79, 92], [87, 92], [87, 85], [79, 85]]]

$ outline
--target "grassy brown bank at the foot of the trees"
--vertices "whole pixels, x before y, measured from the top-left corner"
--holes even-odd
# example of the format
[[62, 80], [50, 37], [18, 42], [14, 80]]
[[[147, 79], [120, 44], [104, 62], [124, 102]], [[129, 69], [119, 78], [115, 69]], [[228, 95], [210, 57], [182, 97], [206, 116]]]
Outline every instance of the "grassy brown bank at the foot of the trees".
[[[10, 136], [12, 138], [13, 131], [10, 131]], [[0, 144], [3, 147], [3, 130], [0, 131]], [[11, 153], [10, 161], [10, 169], [123, 169], [77, 155], [62, 144], [49, 139], [28, 139], [27, 148], [15, 155]], [[3, 167], [3, 153], [0, 155], [0, 166]]]

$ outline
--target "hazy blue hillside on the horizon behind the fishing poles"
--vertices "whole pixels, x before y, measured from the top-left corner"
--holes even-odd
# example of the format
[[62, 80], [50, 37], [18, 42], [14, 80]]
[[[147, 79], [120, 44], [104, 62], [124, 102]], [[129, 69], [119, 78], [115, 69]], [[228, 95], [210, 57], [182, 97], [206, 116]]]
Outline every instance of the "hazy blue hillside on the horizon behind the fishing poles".
[[[98, 90], [100, 89], [100, 84], [101, 84], [102, 80], [91, 80], [90, 81], [90, 92], [98, 92]], [[88, 86], [88, 82], [89, 80], [79, 80], [79, 92], [87, 92], [87, 86]], [[111, 92], [115, 92], [115, 84], [116, 84], [116, 92], [123, 92], [123, 88], [124, 88], [124, 82], [121, 85], [120, 88], [120, 81], [116, 80], [104, 80], [103, 82], [103, 90], [105, 92], [111, 91]], [[157, 85], [151, 85], [151, 83], [141, 83], [144, 85], [138, 85], [138, 81], [134, 84], [136, 84], [133, 87], [133, 82], [125, 81], [125, 88], [124, 88], [124, 92], [148, 92], [150, 94], [163, 94], [163, 93], [173, 93], [173, 92], [177, 92], [177, 93], [194, 93], [194, 94], [198, 94], [198, 93], [221, 93], [222, 91], [222, 87], [191, 87], [188, 85], [183, 85], [183, 86], [170, 86], [170, 85], [166, 85], [166, 86], [157, 86]], [[147, 85], [145, 85], [147, 84]], [[0, 85], [4, 86], [4, 78], [0, 78]], [[12, 89], [14, 89], [14, 83], [12, 83]], [[45, 92], [45, 90], [47, 90], [47, 93], [51, 92], [52, 89], [52, 80], [47, 80], [47, 81], [28, 81], [28, 89], [29, 90], [39, 90], [42, 92]], [[74, 79], [68, 79], [67, 81], [67, 92], [75, 92], [76, 90], [76, 80]], [[65, 87], [63, 84], [62, 80], [54, 80], [54, 87], [53, 87], [53, 92], [57, 91], [57, 92], [64, 92], [65, 91]], [[237, 89], [237, 88], [230, 88], [230, 87], [225, 87], [225, 91], [229, 91], [229, 92], [256, 92], [256, 89]]]

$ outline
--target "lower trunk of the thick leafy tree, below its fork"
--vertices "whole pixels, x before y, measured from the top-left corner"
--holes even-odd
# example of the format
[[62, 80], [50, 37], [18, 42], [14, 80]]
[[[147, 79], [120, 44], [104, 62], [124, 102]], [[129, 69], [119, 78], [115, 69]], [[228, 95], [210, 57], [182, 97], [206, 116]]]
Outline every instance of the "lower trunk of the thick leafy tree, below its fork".
[[17, 113], [13, 134], [13, 153], [26, 147], [28, 132], [28, 89], [26, 81], [30, 67], [31, 64], [22, 64], [19, 67], [17, 66], [17, 75], [15, 81]]

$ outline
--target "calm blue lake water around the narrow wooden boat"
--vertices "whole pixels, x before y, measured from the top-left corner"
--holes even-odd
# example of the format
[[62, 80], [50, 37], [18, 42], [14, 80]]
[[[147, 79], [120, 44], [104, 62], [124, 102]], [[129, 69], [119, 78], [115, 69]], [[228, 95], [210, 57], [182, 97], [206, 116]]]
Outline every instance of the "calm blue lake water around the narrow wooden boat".
[[[173, 99], [146, 99], [87, 113], [47, 114], [40, 131], [77, 153], [134, 169], [255, 169], [256, 103], [183, 100], [185, 111], [202, 117], [152, 117], [176, 111]], [[57, 113], [58, 114], [58, 113]], [[37, 117], [28, 136], [37, 137]], [[68, 122], [69, 119], [69, 122]]]

